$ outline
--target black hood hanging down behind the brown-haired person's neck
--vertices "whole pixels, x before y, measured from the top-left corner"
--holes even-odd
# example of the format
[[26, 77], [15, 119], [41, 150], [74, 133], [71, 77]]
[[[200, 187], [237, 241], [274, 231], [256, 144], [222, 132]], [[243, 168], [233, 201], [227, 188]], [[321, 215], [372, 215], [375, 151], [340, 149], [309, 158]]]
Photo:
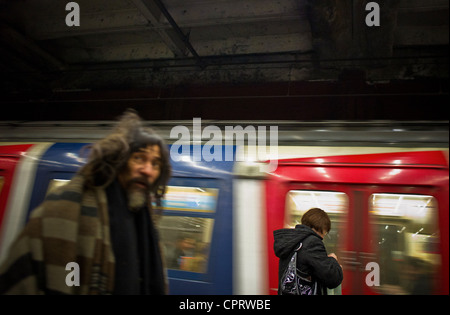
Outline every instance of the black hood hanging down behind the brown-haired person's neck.
[[295, 229], [280, 229], [273, 232], [273, 249], [278, 258], [285, 258], [298, 247], [300, 242], [310, 235], [321, 237], [306, 225], [297, 225]]

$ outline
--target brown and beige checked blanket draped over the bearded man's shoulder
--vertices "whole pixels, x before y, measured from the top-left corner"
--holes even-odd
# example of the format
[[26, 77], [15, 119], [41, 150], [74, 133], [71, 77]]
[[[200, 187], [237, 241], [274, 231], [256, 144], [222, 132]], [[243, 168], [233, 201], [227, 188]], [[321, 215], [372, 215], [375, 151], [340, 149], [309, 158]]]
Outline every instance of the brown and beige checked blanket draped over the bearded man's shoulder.
[[[66, 284], [70, 262], [79, 286]], [[31, 213], [0, 267], [0, 294], [111, 294], [114, 266], [106, 194], [76, 175]]]

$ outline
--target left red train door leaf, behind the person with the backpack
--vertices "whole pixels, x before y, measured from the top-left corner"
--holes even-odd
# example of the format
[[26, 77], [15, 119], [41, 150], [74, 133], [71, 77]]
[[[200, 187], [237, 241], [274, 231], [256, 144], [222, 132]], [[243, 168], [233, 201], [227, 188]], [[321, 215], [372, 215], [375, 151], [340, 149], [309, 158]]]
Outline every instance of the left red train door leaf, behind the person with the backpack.
[[[301, 224], [302, 215], [311, 208], [321, 208], [330, 216], [332, 228], [324, 238], [328, 253], [338, 257], [348, 249], [347, 240], [351, 239], [348, 225], [351, 224], [351, 191], [335, 184], [286, 182], [280, 178], [269, 179], [266, 183], [267, 225], [269, 236], [269, 294], [278, 291], [278, 258], [273, 254], [273, 231], [280, 228], [294, 228]], [[345, 272], [345, 269], [344, 269]], [[348, 276], [344, 274], [344, 278]], [[345, 282], [343, 283], [345, 285]], [[338, 291], [348, 291], [339, 287]]]

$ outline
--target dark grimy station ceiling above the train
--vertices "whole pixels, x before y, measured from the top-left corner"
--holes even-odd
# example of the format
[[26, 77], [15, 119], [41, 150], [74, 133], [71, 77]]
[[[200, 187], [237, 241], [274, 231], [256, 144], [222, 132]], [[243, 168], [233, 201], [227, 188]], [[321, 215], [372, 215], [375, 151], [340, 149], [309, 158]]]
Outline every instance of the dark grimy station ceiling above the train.
[[372, 1], [372, 27], [363, 0], [77, 0], [79, 26], [69, 2], [0, 0], [3, 95], [448, 80], [448, 0]]

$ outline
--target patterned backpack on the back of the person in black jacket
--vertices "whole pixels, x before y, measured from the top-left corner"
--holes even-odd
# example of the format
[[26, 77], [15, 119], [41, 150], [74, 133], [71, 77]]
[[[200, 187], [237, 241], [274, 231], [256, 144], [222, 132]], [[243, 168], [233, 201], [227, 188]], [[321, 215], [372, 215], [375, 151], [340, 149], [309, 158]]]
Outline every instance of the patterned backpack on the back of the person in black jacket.
[[303, 243], [300, 243], [294, 251], [281, 277], [279, 295], [317, 295], [317, 281], [297, 268], [297, 253], [302, 245]]

